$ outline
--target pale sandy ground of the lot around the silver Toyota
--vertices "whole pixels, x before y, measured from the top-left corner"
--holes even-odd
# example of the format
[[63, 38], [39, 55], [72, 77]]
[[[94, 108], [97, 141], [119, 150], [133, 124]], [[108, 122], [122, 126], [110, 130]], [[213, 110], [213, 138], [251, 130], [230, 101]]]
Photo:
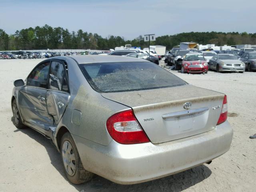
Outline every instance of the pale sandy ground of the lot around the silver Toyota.
[[37, 60], [0, 60], [0, 192], [8, 191], [255, 191], [256, 183], [256, 72], [181, 74], [188, 83], [226, 93], [228, 121], [234, 129], [230, 150], [185, 172], [158, 180], [118, 185], [100, 176], [72, 185], [66, 180], [60, 154], [50, 141], [31, 128], [17, 130], [12, 124], [13, 81], [25, 79]]

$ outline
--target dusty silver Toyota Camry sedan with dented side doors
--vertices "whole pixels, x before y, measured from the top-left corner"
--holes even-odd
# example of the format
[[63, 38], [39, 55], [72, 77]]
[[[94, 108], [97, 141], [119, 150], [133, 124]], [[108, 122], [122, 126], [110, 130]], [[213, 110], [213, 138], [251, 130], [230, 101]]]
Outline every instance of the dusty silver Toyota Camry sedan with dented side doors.
[[58, 56], [14, 86], [15, 126], [50, 138], [74, 184], [161, 178], [210, 163], [232, 141], [225, 94], [146, 60]]

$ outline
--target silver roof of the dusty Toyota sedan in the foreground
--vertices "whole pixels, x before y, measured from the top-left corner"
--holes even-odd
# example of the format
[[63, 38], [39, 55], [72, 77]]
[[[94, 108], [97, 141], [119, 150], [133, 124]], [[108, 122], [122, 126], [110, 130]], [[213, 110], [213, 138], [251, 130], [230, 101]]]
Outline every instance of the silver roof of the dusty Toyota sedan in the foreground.
[[[106, 63], [106, 62], [149, 62], [134, 57], [114, 56], [114, 55], [72, 55], [72, 56], [58, 56], [58, 58], [73, 58], [78, 64], [84, 63]], [[57, 57], [56, 57], [57, 58]]]

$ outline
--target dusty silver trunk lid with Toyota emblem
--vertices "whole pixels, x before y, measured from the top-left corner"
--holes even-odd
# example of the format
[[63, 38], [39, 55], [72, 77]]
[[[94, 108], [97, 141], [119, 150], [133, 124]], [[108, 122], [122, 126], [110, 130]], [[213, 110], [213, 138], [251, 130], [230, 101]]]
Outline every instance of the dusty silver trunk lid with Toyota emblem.
[[214, 129], [224, 98], [222, 93], [192, 85], [102, 93], [102, 96], [132, 108], [138, 122], [154, 144]]

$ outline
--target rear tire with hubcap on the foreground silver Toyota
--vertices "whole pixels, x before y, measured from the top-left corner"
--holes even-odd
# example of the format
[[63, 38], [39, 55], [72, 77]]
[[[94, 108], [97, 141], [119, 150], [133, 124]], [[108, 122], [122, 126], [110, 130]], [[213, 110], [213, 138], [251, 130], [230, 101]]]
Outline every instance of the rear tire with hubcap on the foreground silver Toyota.
[[84, 169], [76, 144], [69, 132], [61, 138], [60, 154], [66, 176], [71, 183], [81, 184], [92, 179], [94, 174]]

